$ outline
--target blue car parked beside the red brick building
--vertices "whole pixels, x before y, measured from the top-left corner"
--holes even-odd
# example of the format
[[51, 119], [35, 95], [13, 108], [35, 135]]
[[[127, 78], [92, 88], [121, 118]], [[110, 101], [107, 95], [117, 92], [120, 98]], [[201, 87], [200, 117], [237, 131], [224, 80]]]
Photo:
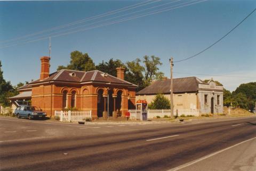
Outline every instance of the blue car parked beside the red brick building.
[[42, 110], [37, 109], [35, 106], [19, 106], [15, 109], [14, 114], [17, 118], [26, 117], [28, 119], [33, 118], [44, 118], [46, 113]]

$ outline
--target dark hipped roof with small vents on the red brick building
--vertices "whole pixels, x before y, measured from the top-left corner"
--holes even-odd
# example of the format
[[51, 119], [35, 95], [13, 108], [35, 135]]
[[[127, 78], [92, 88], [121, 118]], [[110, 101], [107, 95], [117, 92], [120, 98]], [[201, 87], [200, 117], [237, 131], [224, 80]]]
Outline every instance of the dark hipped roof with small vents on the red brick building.
[[118, 83], [118, 84], [127, 84], [127, 86], [131, 87], [138, 87], [135, 84], [127, 82], [125, 80], [121, 80], [116, 78], [115, 76], [107, 74], [104, 76], [105, 73], [94, 70], [94, 71], [74, 71], [74, 70], [60, 70], [55, 73], [50, 74], [49, 78], [45, 80], [36, 80], [30, 82], [29, 84], [45, 82], [45, 81], [68, 81], [68, 82], [89, 82], [89, 81], [97, 81], [97, 82], [110, 82], [110, 83]]

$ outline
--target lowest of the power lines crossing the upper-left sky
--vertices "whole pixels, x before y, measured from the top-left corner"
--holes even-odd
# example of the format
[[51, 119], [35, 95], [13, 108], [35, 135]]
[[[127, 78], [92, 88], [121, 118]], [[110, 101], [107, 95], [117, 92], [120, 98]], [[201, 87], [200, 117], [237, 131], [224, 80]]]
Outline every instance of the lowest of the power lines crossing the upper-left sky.
[[[197, 1], [197, 0], [193, 0], [193, 1]], [[193, 2], [193, 1], [190, 1], [190, 2]], [[76, 32], [81, 32], [81, 31], [85, 31], [85, 30], [90, 30], [90, 29], [94, 29], [94, 28], [99, 28], [99, 27], [103, 27], [105, 25], [111, 25], [111, 24], [115, 24], [115, 23], [119, 23], [119, 22], [123, 22], [123, 21], [128, 21], [128, 20], [132, 20], [132, 19], [137, 19], [137, 18], [141, 18], [143, 16], [148, 16], [148, 15], [153, 15], [153, 14], [157, 14], [157, 13], [161, 13], [161, 12], [165, 12], [165, 11], [170, 11], [170, 10], [173, 10], [173, 9], [176, 9], [176, 8], [180, 8], [180, 7], [184, 7], [184, 6], [189, 6], [189, 5], [193, 5], [193, 4], [197, 4], [197, 3], [201, 3], [201, 2], [204, 2], [204, 1], [208, 1], [208, 0], [203, 0], [203, 1], [198, 1], [198, 2], [194, 2], [194, 3], [190, 3], [190, 4], [186, 4], [186, 5], [181, 5], [181, 6], [178, 6], [178, 7], [173, 7], [173, 8], [170, 8], [170, 7], [165, 7], [165, 8], [162, 8], [161, 10], [159, 11], [155, 11], [155, 12], [147, 12], [147, 13], [143, 13], [143, 14], [140, 14], [140, 15], [135, 15], [135, 16], [131, 16], [129, 18], [125, 18], [125, 19], [121, 19], [121, 20], [117, 20], [117, 21], [112, 21], [112, 22], [109, 22], [109, 23], [105, 23], [105, 24], [101, 24], [101, 25], [96, 25], [94, 27], [90, 27], [90, 28], [85, 28], [85, 29], [80, 29], [80, 30], [75, 30], [75, 31], [70, 31], [70, 32], [66, 32], [66, 33], [61, 33], [59, 35], [50, 35], [51, 37], [59, 37], [59, 36], [63, 36], [63, 35], [69, 35], [71, 33], [76, 33]], [[187, 2], [186, 2], [187, 3]], [[184, 4], [184, 3], [182, 3]], [[180, 4], [179, 4], [180, 5]], [[177, 6], [177, 5], [175, 5]], [[164, 9], [164, 10], [163, 10]], [[39, 41], [39, 40], [43, 40], [43, 39], [47, 39], [49, 38], [49, 36], [47, 37], [41, 37], [41, 38], [38, 38], [36, 40], [29, 40], [29, 41], [26, 41], [26, 42], [21, 42], [21, 43], [18, 43], [18, 44], [13, 44], [13, 45], [7, 45], [7, 46], [2, 46], [0, 48], [5, 48], [5, 47], [11, 47], [11, 46], [15, 46], [15, 45], [20, 45], [20, 44], [26, 44], [28, 42], [35, 42], [35, 41]]]

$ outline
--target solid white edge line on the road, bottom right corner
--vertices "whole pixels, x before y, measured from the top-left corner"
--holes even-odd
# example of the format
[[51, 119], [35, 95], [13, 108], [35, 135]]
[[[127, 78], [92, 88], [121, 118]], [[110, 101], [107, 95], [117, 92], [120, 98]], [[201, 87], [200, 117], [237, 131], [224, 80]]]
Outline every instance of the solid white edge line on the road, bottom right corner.
[[234, 146], [230, 146], [230, 147], [228, 147], [228, 148], [226, 148], [226, 149], [222, 149], [222, 150], [220, 150], [220, 151], [213, 152], [213, 153], [211, 153], [210, 155], [206, 155], [206, 156], [204, 156], [204, 157], [201, 157], [201, 158], [199, 158], [199, 159], [196, 159], [196, 160], [191, 161], [191, 162], [189, 162], [189, 163], [186, 163], [186, 164], [184, 164], [184, 165], [181, 165], [181, 166], [178, 166], [178, 167], [174, 167], [174, 168], [172, 168], [172, 169], [170, 169], [170, 170], [167, 170], [167, 171], [180, 170], [180, 169], [183, 169], [183, 168], [185, 168], [185, 167], [194, 165], [195, 163], [198, 163], [199, 161], [202, 161], [202, 160], [204, 160], [204, 159], [207, 159], [207, 158], [209, 158], [209, 157], [212, 157], [212, 156], [214, 156], [214, 155], [217, 155], [218, 153], [221, 153], [221, 152], [223, 152], [223, 151], [226, 151], [226, 150], [231, 149], [231, 148], [233, 148], [233, 147], [239, 146], [239, 145], [242, 144], [242, 143], [245, 143], [245, 142], [248, 142], [248, 141], [251, 141], [251, 140], [254, 140], [254, 139], [256, 139], [256, 137], [251, 138], [251, 139], [249, 139], [249, 140], [245, 140], [245, 141], [239, 142], [239, 143], [235, 144]]

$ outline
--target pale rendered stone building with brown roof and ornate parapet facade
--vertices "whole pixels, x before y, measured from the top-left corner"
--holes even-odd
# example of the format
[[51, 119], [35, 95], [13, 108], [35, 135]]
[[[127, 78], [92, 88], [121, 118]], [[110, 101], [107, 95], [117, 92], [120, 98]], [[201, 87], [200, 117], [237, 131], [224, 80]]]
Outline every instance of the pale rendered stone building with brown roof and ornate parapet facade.
[[[170, 79], [153, 82], [136, 93], [136, 100], [153, 101], [158, 93], [170, 100]], [[200, 109], [202, 114], [223, 113], [223, 86], [193, 77], [173, 79], [174, 109]]]

